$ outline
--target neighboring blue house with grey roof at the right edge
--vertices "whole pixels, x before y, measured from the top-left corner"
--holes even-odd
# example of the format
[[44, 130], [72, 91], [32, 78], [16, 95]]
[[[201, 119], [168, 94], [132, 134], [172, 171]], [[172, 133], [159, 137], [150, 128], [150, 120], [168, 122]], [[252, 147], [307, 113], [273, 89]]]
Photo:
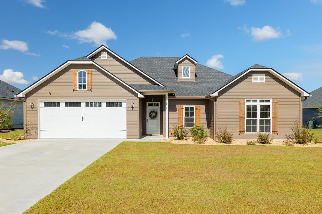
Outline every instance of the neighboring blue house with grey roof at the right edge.
[[306, 125], [306, 121], [314, 120], [315, 129], [321, 129], [322, 125], [321, 118], [314, 118], [318, 116], [317, 107], [322, 107], [322, 87], [318, 88], [310, 93], [312, 97], [308, 97], [307, 100], [303, 101], [303, 125]]

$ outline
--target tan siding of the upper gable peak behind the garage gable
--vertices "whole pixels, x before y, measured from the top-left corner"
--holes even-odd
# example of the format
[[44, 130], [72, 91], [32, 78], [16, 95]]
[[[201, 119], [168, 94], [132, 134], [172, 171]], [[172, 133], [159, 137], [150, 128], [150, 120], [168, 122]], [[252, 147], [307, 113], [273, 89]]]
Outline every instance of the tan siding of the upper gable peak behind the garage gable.
[[107, 52], [107, 55], [107, 60], [101, 59], [101, 52], [91, 59], [128, 84], [156, 84], [113, 54]]

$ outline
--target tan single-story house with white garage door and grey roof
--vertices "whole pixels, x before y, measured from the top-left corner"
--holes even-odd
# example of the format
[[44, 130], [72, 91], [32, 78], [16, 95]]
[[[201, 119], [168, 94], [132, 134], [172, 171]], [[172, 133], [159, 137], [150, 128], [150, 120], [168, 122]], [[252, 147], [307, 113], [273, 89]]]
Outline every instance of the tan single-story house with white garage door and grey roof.
[[128, 62], [101, 46], [17, 96], [26, 100], [29, 138], [169, 137], [173, 124], [196, 123], [212, 138], [227, 124], [235, 139], [255, 139], [259, 130], [284, 139], [309, 93], [258, 64], [232, 76], [188, 55]]

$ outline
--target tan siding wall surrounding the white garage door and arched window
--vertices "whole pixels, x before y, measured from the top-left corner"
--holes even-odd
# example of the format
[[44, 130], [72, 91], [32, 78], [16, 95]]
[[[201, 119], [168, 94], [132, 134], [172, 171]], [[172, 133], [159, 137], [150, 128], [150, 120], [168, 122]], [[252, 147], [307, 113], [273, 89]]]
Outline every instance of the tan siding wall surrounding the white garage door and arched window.
[[[73, 91], [73, 70], [92, 71], [92, 91]], [[49, 94], [51, 92], [51, 94]], [[127, 102], [127, 138], [139, 137], [139, 126], [137, 123], [139, 114], [139, 98], [137, 93], [129, 89], [124, 84], [115, 80], [106, 72], [100, 70], [95, 65], [71, 64], [62, 71], [56, 73], [48, 80], [44, 81], [31, 91], [26, 93], [24, 102], [24, 129], [27, 138], [38, 137], [38, 99], [45, 100], [105, 100], [123, 99]], [[131, 101], [134, 108], [131, 108]], [[34, 107], [30, 108], [29, 102], [33, 102]], [[102, 104], [103, 105], [103, 104]]]

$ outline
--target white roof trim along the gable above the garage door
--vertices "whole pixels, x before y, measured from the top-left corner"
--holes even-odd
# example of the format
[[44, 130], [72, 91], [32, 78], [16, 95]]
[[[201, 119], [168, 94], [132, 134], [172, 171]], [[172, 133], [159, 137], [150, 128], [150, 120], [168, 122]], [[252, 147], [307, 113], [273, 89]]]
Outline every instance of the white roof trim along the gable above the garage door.
[[119, 82], [123, 83], [125, 86], [127, 86], [128, 88], [130, 88], [131, 90], [133, 90], [134, 92], [136, 92], [138, 94], [138, 97], [144, 97], [143, 94], [141, 94], [140, 92], [138, 92], [137, 90], [135, 90], [134, 88], [132, 88], [131, 86], [129, 86], [127, 83], [125, 83], [124, 81], [120, 80], [118, 77], [116, 77], [114, 74], [110, 73], [109, 71], [105, 70], [103, 67], [101, 67], [100, 65], [98, 65], [97, 63], [93, 62], [93, 61], [67, 61], [66, 63], [62, 64], [60, 67], [58, 67], [56, 70], [52, 71], [51, 73], [47, 74], [46, 76], [44, 76], [42, 79], [40, 79], [38, 82], [36, 82], [35, 84], [29, 86], [28, 88], [26, 88], [25, 90], [21, 91], [17, 97], [25, 97], [25, 94], [32, 90], [33, 88], [35, 88], [36, 86], [38, 86], [39, 84], [41, 84], [42, 82], [46, 81], [47, 79], [49, 79], [50, 77], [52, 77], [55, 73], [61, 71], [62, 69], [64, 69], [65, 67], [67, 67], [70, 64], [94, 64], [97, 67], [99, 67], [101, 70], [105, 71], [106, 73], [108, 73], [110, 76], [112, 76], [114, 79], [118, 80]]

